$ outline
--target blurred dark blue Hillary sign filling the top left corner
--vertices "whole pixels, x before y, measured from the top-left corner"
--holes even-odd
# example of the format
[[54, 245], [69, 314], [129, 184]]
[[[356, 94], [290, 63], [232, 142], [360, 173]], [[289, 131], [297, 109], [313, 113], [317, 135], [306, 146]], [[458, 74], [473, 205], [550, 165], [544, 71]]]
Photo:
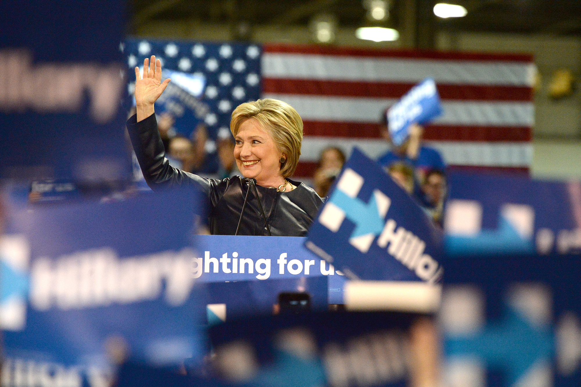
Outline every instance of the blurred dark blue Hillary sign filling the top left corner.
[[3, 1], [0, 15], [0, 178], [128, 180], [125, 2]]

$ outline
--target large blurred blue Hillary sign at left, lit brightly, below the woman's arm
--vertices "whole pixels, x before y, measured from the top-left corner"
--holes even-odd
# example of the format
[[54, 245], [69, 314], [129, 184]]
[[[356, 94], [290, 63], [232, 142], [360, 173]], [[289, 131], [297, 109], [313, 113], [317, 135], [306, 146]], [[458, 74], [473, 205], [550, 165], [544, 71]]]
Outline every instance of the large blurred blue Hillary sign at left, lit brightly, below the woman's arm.
[[201, 356], [196, 203], [188, 188], [15, 209], [0, 244], [2, 385], [98, 386], [111, 352], [150, 364]]

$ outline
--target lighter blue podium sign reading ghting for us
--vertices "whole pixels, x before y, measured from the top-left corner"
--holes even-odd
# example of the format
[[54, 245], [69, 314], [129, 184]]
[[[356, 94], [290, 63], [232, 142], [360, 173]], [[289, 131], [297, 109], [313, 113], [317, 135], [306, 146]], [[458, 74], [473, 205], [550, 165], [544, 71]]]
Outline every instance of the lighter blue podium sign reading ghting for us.
[[[328, 303], [343, 303], [345, 277], [332, 264], [304, 248], [304, 237], [198, 235], [198, 257], [193, 277], [200, 282], [265, 281], [281, 282], [290, 288], [313, 277], [328, 277]], [[293, 284], [297, 285], [293, 285]], [[317, 282], [315, 282], [317, 283]], [[260, 284], [252, 285], [262, 286]], [[265, 285], [266, 286], [266, 285]], [[297, 290], [295, 290], [297, 291]]]

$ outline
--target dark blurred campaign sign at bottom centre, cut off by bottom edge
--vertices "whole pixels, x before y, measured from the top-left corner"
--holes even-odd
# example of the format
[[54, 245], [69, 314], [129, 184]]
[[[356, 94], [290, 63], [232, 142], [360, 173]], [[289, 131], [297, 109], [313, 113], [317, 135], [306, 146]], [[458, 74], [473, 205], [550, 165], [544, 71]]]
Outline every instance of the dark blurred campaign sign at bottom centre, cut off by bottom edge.
[[279, 314], [214, 325], [214, 373], [247, 386], [405, 386], [414, 372], [405, 332], [417, 317]]

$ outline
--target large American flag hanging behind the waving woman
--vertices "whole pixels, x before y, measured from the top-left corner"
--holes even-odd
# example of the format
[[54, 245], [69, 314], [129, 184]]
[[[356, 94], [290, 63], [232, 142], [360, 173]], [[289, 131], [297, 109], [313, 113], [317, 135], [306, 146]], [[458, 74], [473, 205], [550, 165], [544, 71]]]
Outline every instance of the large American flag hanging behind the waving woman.
[[[449, 166], [528, 171], [532, 162], [536, 67], [530, 55], [168, 41], [148, 42], [144, 54], [143, 42], [126, 50], [130, 67], [155, 54], [170, 69], [206, 75], [203, 101], [210, 105], [206, 124], [213, 138], [228, 129], [241, 102], [276, 98], [295, 107], [304, 123], [297, 177], [313, 174], [325, 146], [347, 154], [358, 146], [372, 158], [386, 152], [383, 109], [426, 77], [436, 81], [444, 113], [425, 127], [424, 140]], [[169, 55], [175, 50], [170, 46], [168, 53], [168, 45], [178, 53]], [[236, 87], [243, 88], [242, 98]]]

